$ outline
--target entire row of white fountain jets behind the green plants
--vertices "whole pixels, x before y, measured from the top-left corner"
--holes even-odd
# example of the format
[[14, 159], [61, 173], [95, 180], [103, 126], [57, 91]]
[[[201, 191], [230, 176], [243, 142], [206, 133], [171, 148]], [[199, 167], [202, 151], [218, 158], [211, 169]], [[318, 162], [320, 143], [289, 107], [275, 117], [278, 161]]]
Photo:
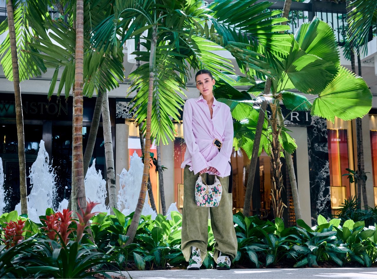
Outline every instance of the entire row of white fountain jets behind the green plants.
[[[57, 205], [56, 199], [58, 198], [56, 194], [56, 174], [54, 168], [49, 164], [49, 155], [46, 152], [43, 140], [41, 140], [39, 147], [37, 159], [29, 169], [32, 189], [28, 196], [28, 212], [29, 218], [34, 222], [40, 222], [39, 216], [45, 214], [46, 208], [51, 207], [55, 209], [54, 204]], [[130, 156], [130, 159], [130, 169], [128, 172], [123, 169], [119, 175], [121, 187], [118, 193], [117, 207], [124, 215], [129, 215], [136, 208], [144, 169], [143, 162], [136, 152]], [[6, 205], [3, 182], [3, 165], [0, 158], [0, 208], [4, 208]], [[84, 184], [86, 198], [94, 202], [100, 202], [96, 206], [96, 211], [109, 213], [109, 206], [105, 204], [107, 197], [106, 181], [102, 178], [101, 170], [96, 170], [95, 159], [87, 171]], [[149, 201], [148, 193], [146, 193], [146, 201]], [[67, 208], [67, 205], [67, 199], [63, 199], [59, 203], [57, 210], [62, 211], [64, 208]], [[16, 205], [15, 210], [19, 213], [21, 212], [20, 203]], [[171, 218], [171, 211], [178, 211], [175, 203], [169, 207], [167, 213], [168, 219]], [[142, 214], [151, 215], [152, 219], [155, 219], [157, 216], [157, 213], [150, 207], [148, 202], [144, 203]]]

